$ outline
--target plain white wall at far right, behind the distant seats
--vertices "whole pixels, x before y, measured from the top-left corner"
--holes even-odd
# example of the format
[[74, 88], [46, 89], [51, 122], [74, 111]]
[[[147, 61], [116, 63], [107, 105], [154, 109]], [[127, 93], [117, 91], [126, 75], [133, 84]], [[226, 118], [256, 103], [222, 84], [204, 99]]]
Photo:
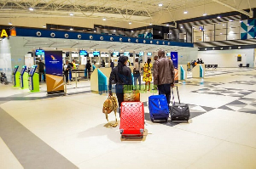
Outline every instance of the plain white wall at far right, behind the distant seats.
[[[237, 61], [238, 54], [241, 54], [241, 62]], [[206, 65], [218, 67], [238, 67], [239, 64], [250, 64], [253, 67], [254, 49], [199, 51], [197, 58], [202, 59]]]

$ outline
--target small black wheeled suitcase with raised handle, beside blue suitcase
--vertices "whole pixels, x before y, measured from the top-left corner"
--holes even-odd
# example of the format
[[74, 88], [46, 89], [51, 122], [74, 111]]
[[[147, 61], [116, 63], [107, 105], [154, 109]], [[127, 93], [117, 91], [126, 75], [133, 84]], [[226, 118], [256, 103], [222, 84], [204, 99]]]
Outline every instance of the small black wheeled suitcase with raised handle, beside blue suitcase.
[[[177, 86], [175, 86], [177, 88]], [[190, 112], [188, 104], [180, 104], [179, 94], [177, 90], [178, 104], [175, 104], [173, 87], [172, 90], [172, 101], [173, 104], [170, 107], [171, 121], [189, 121]]]

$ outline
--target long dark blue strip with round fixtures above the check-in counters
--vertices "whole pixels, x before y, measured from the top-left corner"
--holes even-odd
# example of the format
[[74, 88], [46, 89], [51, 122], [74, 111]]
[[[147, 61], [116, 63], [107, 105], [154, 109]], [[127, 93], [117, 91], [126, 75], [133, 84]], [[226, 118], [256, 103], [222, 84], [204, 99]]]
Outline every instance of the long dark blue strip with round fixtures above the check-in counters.
[[107, 42], [132, 42], [143, 44], [154, 44], [164, 46], [180, 46], [193, 48], [194, 44], [189, 42], [172, 42], [157, 39], [145, 39], [136, 37], [120, 37], [115, 35], [103, 35], [96, 33], [84, 33], [78, 31], [56, 31], [45, 29], [32, 29], [16, 27], [16, 36], [18, 37], [48, 37], [76, 40], [92, 40], [92, 41], [107, 41]]

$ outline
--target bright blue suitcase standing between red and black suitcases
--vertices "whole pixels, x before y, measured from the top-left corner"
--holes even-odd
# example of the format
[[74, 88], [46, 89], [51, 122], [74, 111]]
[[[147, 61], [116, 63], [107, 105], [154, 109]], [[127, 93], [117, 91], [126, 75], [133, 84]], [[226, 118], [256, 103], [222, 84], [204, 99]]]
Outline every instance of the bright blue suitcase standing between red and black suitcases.
[[148, 107], [151, 121], [165, 120], [169, 118], [169, 106], [165, 95], [153, 95], [148, 97]]

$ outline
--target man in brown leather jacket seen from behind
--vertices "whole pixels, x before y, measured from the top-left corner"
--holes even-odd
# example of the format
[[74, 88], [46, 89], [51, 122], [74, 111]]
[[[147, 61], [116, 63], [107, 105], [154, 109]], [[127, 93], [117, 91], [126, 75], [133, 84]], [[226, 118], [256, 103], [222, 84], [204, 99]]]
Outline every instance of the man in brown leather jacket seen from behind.
[[165, 56], [165, 51], [158, 52], [159, 59], [154, 64], [154, 85], [157, 85], [159, 94], [165, 94], [167, 103], [170, 104], [171, 86], [174, 86], [174, 65], [172, 59]]

